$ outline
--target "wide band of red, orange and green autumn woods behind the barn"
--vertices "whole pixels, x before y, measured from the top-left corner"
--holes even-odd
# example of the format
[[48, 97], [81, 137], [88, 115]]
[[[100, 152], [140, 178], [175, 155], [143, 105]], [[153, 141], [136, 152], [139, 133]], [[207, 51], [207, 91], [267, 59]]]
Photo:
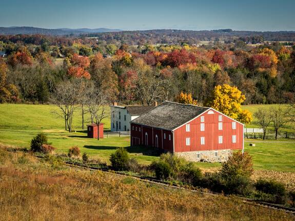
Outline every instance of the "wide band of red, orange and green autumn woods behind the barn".
[[[10, 40], [0, 42], [0, 50], [9, 51], [0, 60], [1, 102], [47, 103], [56, 85], [71, 78], [91, 81], [109, 101], [127, 104], [174, 100], [182, 91], [203, 104], [223, 84], [237, 86], [246, 104], [294, 99], [295, 52], [279, 43], [257, 48], [219, 43], [132, 47], [78, 41], [55, 46], [42, 36], [40, 45]], [[58, 63], [56, 57], [64, 58]]]

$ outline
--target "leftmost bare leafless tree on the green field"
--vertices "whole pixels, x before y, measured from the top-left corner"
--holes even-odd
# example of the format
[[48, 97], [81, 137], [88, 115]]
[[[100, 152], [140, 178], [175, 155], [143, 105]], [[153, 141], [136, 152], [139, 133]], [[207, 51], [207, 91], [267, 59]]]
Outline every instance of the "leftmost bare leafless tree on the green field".
[[56, 85], [50, 102], [59, 108], [53, 113], [65, 119], [65, 129], [72, 132], [73, 114], [78, 108], [79, 94], [76, 81], [65, 81]]

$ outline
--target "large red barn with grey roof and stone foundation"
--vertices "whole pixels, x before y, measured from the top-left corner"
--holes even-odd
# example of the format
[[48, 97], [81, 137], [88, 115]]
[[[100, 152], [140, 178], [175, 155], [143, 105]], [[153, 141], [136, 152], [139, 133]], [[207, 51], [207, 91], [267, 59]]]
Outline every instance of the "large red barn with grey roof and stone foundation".
[[244, 148], [244, 125], [213, 108], [164, 102], [130, 122], [130, 145], [193, 161], [224, 162]]

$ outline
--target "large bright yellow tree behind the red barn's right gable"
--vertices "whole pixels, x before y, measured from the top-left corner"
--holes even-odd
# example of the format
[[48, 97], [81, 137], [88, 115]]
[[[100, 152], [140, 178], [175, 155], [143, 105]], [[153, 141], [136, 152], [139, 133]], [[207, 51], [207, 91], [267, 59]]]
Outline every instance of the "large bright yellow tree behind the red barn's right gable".
[[205, 105], [244, 124], [249, 124], [252, 121], [252, 115], [249, 111], [241, 108], [245, 99], [245, 95], [237, 87], [224, 84], [215, 86]]

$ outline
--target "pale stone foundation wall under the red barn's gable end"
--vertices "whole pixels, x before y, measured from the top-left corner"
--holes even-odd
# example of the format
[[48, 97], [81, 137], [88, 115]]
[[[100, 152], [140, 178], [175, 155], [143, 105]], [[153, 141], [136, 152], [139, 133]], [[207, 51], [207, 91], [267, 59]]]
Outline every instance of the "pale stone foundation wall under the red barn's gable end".
[[[217, 156], [215, 155], [217, 152]], [[206, 150], [206, 151], [190, 151], [190, 152], [175, 152], [176, 156], [183, 157], [193, 162], [225, 162], [231, 155], [232, 150]]]

